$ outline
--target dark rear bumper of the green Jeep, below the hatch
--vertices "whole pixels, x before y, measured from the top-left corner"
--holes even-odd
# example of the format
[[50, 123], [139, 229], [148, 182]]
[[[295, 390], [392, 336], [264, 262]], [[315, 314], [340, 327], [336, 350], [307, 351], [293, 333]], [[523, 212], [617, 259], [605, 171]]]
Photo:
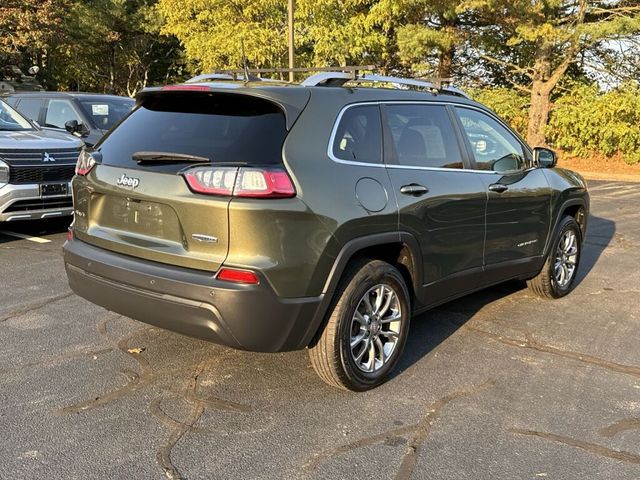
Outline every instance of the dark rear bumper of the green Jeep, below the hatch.
[[280, 298], [259, 285], [136, 259], [80, 240], [66, 242], [69, 285], [79, 296], [127, 317], [232, 348], [258, 352], [306, 347], [322, 297]]

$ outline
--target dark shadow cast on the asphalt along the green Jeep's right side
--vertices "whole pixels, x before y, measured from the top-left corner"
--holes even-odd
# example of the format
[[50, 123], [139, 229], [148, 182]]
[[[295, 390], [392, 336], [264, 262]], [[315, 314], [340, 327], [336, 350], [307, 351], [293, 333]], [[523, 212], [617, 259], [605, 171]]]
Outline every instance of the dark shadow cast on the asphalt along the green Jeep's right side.
[[[576, 285], [579, 285], [595, 267], [600, 256], [613, 240], [615, 233], [616, 224], [614, 221], [601, 217], [589, 217], [587, 237], [584, 241]], [[525, 282], [506, 282], [453, 300], [414, 317], [399, 368], [392, 374], [392, 377], [401, 375], [404, 370], [419, 362], [471, 320], [483, 307], [525, 288]]]

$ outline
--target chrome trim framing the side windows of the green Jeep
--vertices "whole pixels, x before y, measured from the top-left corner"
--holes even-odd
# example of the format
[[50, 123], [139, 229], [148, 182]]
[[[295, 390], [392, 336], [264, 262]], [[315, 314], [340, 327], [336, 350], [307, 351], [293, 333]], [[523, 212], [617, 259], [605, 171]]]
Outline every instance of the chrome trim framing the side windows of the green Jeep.
[[[338, 126], [340, 125], [342, 116], [348, 109], [353, 107], [363, 106], [363, 105], [377, 105], [378, 107], [380, 105], [452, 105], [453, 107], [470, 108], [472, 110], [477, 110], [480, 113], [484, 113], [485, 115], [488, 115], [489, 117], [496, 120], [503, 127], [505, 127], [508, 132], [510, 132], [515, 137], [515, 139], [518, 141], [518, 143], [522, 145], [523, 148], [526, 148], [527, 150], [529, 150], [529, 152], [531, 152], [531, 149], [529, 148], [529, 146], [523, 143], [522, 140], [512, 132], [511, 128], [507, 124], [505, 124], [502, 120], [500, 120], [500, 118], [498, 118], [496, 115], [491, 114], [490, 112], [487, 112], [482, 108], [476, 107], [475, 105], [467, 105], [466, 103], [458, 103], [458, 102], [450, 102], [450, 101], [434, 102], [429, 100], [426, 100], [426, 101], [425, 100], [389, 100], [389, 101], [374, 100], [374, 101], [367, 101], [367, 102], [350, 103], [342, 107], [342, 109], [340, 110], [340, 113], [338, 113], [338, 116], [336, 117], [336, 120], [333, 123], [333, 128], [331, 129], [331, 137], [329, 137], [329, 146], [327, 147], [327, 156], [335, 163], [341, 163], [343, 165], [358, 165], [358, 166], [375, 167], [375, 168], [393, 168], [393, 169], [400, 169], [400, 170], [426, 170], [426, 171], [436, 171], [436, 172], [469, 172], [469, 173], [485, 173], [485, 174], [488, 173], [492, 175], [503, 175], [503, 176], [515, 175], [516, 173], [524, 173], [531, 170], [535, 170], [535, 167], [531, 167], [526, 170], [514, 170], [512, 172], [496, 172], [495, 170], [475, 170], [471, 168], [443, 168], [443, 167], [418, 167], [415, 165], [389, 165], [384, 163], [384, 152], [382, 152], [383, 153], [382, 163], [356, 162], [354, 160], [342, 160], [340, 158], [337, 158], [333, 154], [333, 143], [335, 142], [336, 135], [338, 133]], [[381, 126], [384, 129], [384, 125], [381, 125]]]

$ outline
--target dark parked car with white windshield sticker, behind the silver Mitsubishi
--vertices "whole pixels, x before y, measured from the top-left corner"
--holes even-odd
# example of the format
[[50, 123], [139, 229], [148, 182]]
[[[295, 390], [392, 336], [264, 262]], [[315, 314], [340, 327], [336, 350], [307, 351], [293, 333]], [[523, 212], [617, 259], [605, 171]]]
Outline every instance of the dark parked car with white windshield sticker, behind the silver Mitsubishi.
[[97, 93], [19, 92], [7, 102], [44, 128], [68, 131], [92, 146], [122, 117], [135, 101], [128, 97]]

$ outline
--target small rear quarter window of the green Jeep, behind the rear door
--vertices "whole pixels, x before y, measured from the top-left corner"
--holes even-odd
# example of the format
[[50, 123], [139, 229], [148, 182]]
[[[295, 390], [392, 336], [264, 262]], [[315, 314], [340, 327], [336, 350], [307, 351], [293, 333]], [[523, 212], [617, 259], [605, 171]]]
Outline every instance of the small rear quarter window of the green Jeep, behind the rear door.
[[340, 160], [382, 163], [382, 127], [378, 106], [362, 105], [345, 110], [332, 151]]

